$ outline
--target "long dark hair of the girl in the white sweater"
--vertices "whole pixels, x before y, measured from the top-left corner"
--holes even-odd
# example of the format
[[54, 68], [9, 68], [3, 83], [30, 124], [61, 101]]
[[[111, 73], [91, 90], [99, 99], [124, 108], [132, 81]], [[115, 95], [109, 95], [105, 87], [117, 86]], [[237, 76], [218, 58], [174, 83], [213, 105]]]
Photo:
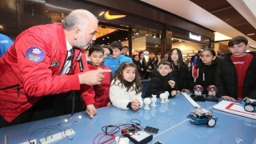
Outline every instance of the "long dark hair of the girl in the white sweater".
[[[126, 82], [126, 80], [123, 79], [122, 72], [126, 69], [126, 67], [134, 67], [136, 70], [133, 82]], [[129, 91], [130, 89], [135, 90], [136, 94], [142, 92], [141, 77], [138, 73], [137, 66], [133, 62], [122, 62], [122, 64], [118, 67], [118, 70], [114, 72], [114, 82], [112, 85], [114, 85], [117, 80], [120, 81], [119, 83], [121, 83], [122, 86], [125, 86], [127, 88], [126, 91]]]

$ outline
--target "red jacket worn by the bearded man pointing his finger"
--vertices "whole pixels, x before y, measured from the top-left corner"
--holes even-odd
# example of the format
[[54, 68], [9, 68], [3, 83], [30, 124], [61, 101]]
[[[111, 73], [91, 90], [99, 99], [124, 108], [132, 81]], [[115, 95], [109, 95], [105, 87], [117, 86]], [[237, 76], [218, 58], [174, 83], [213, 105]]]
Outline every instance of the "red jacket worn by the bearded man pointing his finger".
[[[31, 50], [34, 48], [37, 50], [33, 55]], [[82, 57], [78, 56], [80, 52]], [[62, 24], [34, 26], [19, 34], [7, 53], [0, 58], [2, 117], [11, 122], [42, 96], [70, 90], [82, 90], [84, 96], [83, 92], [88, 89], [91, 93], [86, 94], [94, 94], [93, 86], [79, 84], [78, 73], [88, 70], [84, 53], [80, 49], [74, 51], [74, 74], [60, 74], [67, 55]], [[83, 70], [78, 65], [81, 58]]]

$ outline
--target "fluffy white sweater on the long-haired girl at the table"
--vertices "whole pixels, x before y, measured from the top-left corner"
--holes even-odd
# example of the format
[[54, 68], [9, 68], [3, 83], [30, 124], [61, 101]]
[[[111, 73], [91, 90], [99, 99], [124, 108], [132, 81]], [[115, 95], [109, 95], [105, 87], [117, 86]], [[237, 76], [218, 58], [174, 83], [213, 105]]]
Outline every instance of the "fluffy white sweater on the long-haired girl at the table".
[[110, 85], [110, 101], [112, 102], [113, 106], [116, 106], [122, 110], [128, 110], [128, 103], [131, 102], [133, 99], [137, 98], [138, 101], [141, 103], [140, 108], [142, 108], [142, 92], [136, 94], [135, 90], [126, 91], [127, 89], [125, 86], [122, 86], [121, 83], [118, 85], [118, 83], [120, 82], [119, 80], [117, 80], [114, 85], [112, 85], [113, 82], [114, 79], [112, 80]]

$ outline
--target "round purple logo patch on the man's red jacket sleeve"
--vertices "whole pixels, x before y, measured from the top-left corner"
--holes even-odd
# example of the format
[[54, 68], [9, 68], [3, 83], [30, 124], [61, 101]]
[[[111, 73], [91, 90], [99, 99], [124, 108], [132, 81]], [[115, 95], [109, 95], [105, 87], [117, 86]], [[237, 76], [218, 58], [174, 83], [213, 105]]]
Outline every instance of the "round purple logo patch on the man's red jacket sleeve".
[[26, 58], [32, 62], [42, 62], [46, 58], [46, 54], [39, 47], [30, 47], [26, 50]]

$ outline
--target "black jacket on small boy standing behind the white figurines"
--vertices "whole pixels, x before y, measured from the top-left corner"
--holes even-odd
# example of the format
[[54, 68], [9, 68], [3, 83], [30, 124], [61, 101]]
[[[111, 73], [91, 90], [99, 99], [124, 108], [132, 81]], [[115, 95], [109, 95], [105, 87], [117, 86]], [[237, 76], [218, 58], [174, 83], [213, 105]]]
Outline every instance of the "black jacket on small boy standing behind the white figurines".
[[153, 70], [152, 78], [150, 80], [149, 87], [146, 90], [145, 97], [151, 97], [151, 94], [157, 94], [157, 97], [159, 98], [159, 95], [165, 91], [170, 93], [172, 90], [176, 90], [175, 87], [174, 89], [170, 88], [168, 83], [170, 80], [174, 80], [171, 73], [167, 74], [166, 76], [162, 76], [159, 74], [158, 70]]

